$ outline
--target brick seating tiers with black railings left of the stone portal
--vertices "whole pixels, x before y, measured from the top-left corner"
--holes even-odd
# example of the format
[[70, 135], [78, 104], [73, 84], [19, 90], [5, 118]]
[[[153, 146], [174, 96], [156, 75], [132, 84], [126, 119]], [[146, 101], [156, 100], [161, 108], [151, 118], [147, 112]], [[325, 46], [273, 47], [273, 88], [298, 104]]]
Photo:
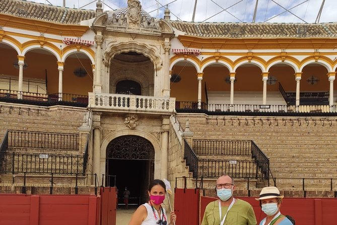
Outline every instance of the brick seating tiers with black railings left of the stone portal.
[[[87, 109], [67, 106], [39, 107], [2, 103], [0, 105], [0, 138], [13, 130], [0, 171], [0, 186], [50, 185], [51, 172], [55, 185], [83, 185], [83, 149], [80, 149], [78, 128]], [[15, 137], [14, 137], [15, 136]], [[75, 140], [77, 139], [77, 140]], [[72, 143], [72, 147], [66, 147]], [[44, 156], [41, 156], [43, 154]], [[43, 158], [46, 157], [46, 158]], [[74, 166], [74, 167], [72, 167]], [[14, 168], [15, 173], [9, 172]], [[48, 178], [49, 177], [49, 178]]]

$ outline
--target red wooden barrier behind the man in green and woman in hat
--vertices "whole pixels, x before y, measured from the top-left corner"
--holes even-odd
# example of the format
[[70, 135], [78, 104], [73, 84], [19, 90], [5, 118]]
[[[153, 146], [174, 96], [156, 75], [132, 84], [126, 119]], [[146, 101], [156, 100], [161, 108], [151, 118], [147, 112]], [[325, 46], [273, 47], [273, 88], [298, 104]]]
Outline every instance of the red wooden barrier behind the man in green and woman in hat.
[[[249, 202], [254, 209], [257, 222], [265, 217], [259, 202], [253, 197], [237, 197]], [[207, 204], [216, 198], [201, 197], [200, 221], [204, 217]], [[284, 198], [281, 205], [284, 215], [291, 215], [296, 220], [296, 225], [326, 225], [337, 224], [333, 222], [337, 212], [337, 199], [335, 198]]]

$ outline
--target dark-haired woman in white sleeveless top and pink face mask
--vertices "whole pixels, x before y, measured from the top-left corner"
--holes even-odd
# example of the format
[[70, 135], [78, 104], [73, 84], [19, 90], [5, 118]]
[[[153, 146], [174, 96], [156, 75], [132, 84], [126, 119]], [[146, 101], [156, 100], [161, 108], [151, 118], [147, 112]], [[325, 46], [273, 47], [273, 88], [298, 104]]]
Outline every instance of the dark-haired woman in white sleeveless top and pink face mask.
[[176, 215], [172, 211], [167, 218], [165, 209], [161, 206], [165, 199], [166, 186], [161, 180], [153, 180], [148, 189], [149, 202], [141, 205], [133, 213], [129, 225], [174, 225]]

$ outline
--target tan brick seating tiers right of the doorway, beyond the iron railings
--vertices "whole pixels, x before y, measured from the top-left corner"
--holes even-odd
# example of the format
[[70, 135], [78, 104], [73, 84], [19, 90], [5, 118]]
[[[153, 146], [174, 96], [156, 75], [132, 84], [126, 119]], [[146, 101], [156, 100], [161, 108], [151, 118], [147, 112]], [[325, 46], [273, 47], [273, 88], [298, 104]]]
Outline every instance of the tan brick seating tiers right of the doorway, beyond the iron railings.
[[189, 121], [193, 139], [253, 140], [270, 158], [281, 189], [302, 190], [304, 182], [305, 190], [330, 190], [331, 183], [337, 190], [337, 118], [200, 114], [178, 114], [177, 118], [181, 124]]

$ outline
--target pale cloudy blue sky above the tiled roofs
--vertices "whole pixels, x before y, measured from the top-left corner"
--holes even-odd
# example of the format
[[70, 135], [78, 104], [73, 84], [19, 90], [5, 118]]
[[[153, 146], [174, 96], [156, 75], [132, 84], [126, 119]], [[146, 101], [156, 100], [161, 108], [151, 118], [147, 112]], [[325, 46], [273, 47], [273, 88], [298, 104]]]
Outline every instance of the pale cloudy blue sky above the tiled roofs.
[[[29, 0], [28, 0], [29, 1]], [[127, 7], [127, 0], [101, 0], [104, 10], [111, 11]], [[29, 2], [62, 6], [63, 0], [34, 0]], [[168, 5], [171, 20], [191, 21], [195, 0], [140, 0], [151, 16], [163, 17]], [[258, 0], [255, 22], [268, 23], [315, 23], [323, 0]], [[256, 0], [197, 0], [195, 22], [247, 22], [253, 20]], [[320, 23], [337, 22], [336, 0], [325, 0]], [[65, 0], [69, 8], [95, 9], [93, 0]], [[288, 11], [290, 12], [287, 12]]]

